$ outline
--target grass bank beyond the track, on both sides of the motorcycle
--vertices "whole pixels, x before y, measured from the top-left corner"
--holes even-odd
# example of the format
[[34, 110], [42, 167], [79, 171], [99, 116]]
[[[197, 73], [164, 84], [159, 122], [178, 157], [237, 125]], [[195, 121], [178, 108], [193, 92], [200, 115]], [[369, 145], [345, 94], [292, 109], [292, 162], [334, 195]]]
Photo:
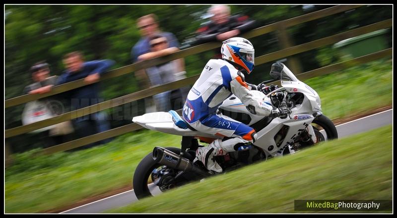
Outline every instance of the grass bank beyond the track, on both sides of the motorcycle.
[[[392, 104], [392, 64], [380, 60], [306, 80], [331, 119]], [[144, 130], [73, 153], [12, 155], [5, 170], [5, 212], [37, 213], [131, 184], [139, 161], [155, 146], [179, 147], [180, 136]]]

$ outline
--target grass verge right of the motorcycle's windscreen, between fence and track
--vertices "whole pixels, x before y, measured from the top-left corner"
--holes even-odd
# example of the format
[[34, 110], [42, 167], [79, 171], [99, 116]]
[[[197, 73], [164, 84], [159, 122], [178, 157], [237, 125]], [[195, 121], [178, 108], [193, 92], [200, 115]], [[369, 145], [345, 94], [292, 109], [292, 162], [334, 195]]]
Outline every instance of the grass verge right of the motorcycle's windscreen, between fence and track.
[[320, 95], [331, 119], [392, 105], [392, 60], [380, 59], [304, 82]]

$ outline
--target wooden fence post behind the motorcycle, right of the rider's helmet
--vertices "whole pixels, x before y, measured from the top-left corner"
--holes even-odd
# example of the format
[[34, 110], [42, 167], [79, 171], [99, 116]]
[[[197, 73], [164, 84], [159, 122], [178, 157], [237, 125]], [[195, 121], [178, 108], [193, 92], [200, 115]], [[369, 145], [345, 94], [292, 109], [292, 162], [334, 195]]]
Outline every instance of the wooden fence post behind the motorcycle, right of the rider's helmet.
[[[289, 37], [286, 27], [283, 24], [283, 22], [280, 22], [279, 25], [277, 25], [276, 34], [277, 34], [278, 40], [280, 42], [281, 49], [286, 49], [286, 48], [290, 48], [293, 46], [293, 43], [291, 43], [291, 38]], [[292, 70], [292, 72], [294, 72], [294, 74], [303, 73], [301, 63], [297, 57], [294, 57], [293, 55], [290, 57], [287, 57], [287, 63], [288, 64], [286, 64], [286, 65], [288, 65], [288, 67], [291, 68], [291, 70]]]

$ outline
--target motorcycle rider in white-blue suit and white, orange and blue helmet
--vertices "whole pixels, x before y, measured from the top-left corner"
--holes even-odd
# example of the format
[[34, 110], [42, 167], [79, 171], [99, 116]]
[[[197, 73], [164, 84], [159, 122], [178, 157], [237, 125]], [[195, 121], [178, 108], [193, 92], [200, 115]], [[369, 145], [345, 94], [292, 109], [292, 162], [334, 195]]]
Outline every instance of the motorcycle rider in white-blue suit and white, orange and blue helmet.
[[251, 91], [259, 89], [266, 93], [269, 87], [263, 83], [257, 87], [245, 82], [244, 74], [250, 74], [254, 69], [255, 50], [250, 41], [241, 37], [225, 40], [221, 54], [222, 59], [207, 62], [183, 108], [183, 117], [190, 127], [223, 137], [196, 151], [194, 163], [199, 161], [214, 172], [222, 172], [222, 167], [213, 160], [214, 156], [247, 150], [257, 139], [253, 128], [219, 112], [219, 106], [229, 96], [234, 94], [253, 114], [280, 118], [288, 115], [286, 107], [275, 108], [267, 97], [259, 98]]

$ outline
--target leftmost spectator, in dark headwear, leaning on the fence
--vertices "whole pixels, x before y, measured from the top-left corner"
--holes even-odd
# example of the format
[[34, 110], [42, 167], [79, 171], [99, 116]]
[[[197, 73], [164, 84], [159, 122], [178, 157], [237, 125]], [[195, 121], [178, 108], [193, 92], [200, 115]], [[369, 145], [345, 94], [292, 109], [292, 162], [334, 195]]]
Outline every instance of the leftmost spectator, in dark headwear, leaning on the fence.
[[[45, 93], [49, 91], [57, 81], [57, 76], [50, 76], [50, 67], [45, 61], [35, 63], [30, 68], [30, 73], [35, 83], [26, 86], [24, 94]], [[57, 96], [49, 96], [33, 102], [28, 102], [22, 114], [22, 122], [25, 125], [62, 114], [65, 112], [63, 106], [64, 104]], [[70, 121], [65, 121], [32, 132], [39, 133], [39, 137], [43, 138], [44, 147], [48, 148], [70, 141], [73, 127]]]

